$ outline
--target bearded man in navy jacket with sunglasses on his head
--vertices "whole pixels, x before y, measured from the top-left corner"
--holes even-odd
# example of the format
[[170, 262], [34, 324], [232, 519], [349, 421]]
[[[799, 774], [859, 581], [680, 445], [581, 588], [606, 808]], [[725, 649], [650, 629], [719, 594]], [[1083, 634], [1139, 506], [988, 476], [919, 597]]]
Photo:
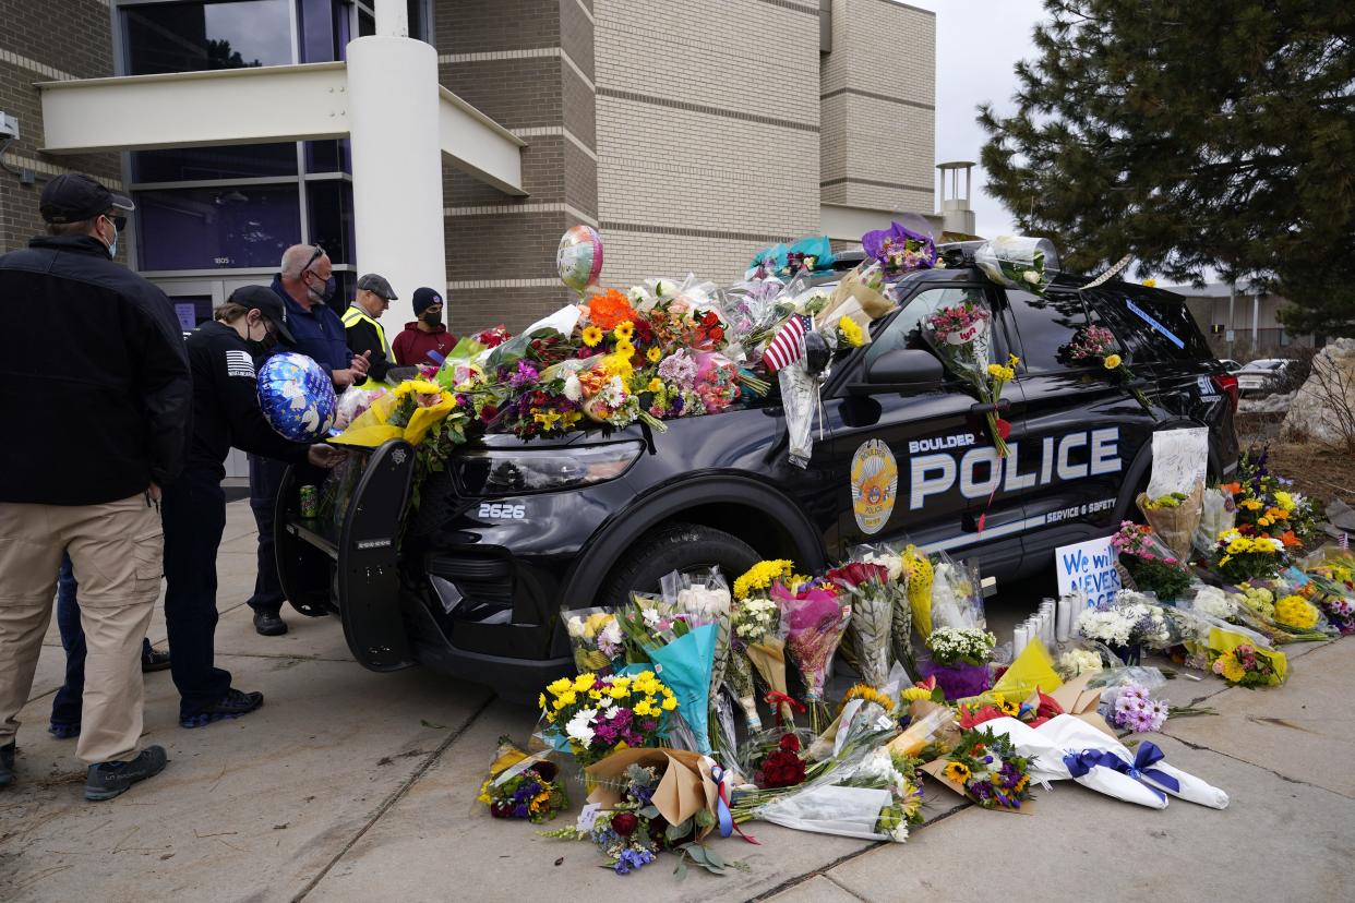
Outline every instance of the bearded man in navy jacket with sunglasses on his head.
[[[272, 280], [272, 292], [282, 301], [283, 320], [293, 341], [279, 351], [297, 351], [314, 359], [329, 374], [335, 391], [341, 393], [367, 374], [367, 355], [354, 355], [339, 314], [329, 307], [335, 294], [333, 265], [320, 245], [293, 245], [282, 255], [282, 268]], [[259, 528], [259, 573], [249, 597], [255, 631], [262, 636], [287, 632], [282, 620], [282, 579], [272, 544], [272, 513], [287, 466], [282, 462], [249, 456], [249, 508]]]

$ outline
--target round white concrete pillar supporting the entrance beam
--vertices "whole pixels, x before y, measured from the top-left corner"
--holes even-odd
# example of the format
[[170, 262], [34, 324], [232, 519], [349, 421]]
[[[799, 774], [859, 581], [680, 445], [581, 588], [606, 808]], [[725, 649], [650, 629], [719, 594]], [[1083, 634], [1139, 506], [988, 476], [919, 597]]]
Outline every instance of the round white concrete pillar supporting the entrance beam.
[[[377, 15], [386, 7], [404, 16], [392, 0]], [[438, 51], [411, 38], [358, 38], [348, 45], [348, 96], [358, 268], [400, 295], [381, 321], [394, 338], [413, 320], [415, 288], [447, 291]]]

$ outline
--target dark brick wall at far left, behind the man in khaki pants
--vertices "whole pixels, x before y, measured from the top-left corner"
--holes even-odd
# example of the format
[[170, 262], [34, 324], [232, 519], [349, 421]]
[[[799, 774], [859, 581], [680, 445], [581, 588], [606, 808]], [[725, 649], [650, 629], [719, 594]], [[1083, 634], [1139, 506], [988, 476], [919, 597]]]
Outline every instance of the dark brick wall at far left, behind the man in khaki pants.
[[43, 232], [38, 215], [43, 176], [88, 172], [122, 190], [117, 154], [51, 156], [38, 150], [43, 144], [42, 100], [34, 83], [112, 74], [108, 7], [96, 0], [43, 0], [42, 15], [35, 15], [38, 5], [34, 0], [0, 0], [0, 110], [19, 119], [22, 135], [7, 148], [4, 162], [12, 169], [33, 169], [39, 179], [24, 185], [0, 171], [0, 252], [20, 248]]

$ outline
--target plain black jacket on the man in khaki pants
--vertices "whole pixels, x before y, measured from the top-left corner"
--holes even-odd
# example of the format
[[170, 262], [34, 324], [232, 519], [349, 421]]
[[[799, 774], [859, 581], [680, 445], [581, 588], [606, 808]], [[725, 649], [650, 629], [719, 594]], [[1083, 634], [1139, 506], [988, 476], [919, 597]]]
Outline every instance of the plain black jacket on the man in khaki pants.
[[183, 467], [192, 386], [153, 284], [89, 236], [0, 257], [0, 501], [98, 505]]

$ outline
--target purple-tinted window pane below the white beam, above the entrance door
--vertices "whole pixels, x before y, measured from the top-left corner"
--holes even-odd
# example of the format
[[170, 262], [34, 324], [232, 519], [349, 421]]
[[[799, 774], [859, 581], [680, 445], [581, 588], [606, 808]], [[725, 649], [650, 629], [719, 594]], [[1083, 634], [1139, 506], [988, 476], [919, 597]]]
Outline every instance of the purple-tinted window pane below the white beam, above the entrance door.
[[276, 267], [301, 241], [297, 185], [136, 192], [141, 269]]

